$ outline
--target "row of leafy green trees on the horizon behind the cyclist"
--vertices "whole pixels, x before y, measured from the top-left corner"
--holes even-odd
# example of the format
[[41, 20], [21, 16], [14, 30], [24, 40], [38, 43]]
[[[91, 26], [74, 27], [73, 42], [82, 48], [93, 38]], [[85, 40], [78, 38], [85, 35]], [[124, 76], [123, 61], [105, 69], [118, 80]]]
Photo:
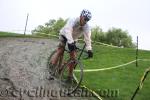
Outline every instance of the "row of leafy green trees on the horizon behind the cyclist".
[[[32, 30], [33, 35], [59, 35], [60, 29], [65, 25], [67, 19], [59, 18], [57, 20], [50, 19], [44, 25], [37, 26]], [[92, 40], [102, 42], [118, 47], [135, 48], [135, 44], [132, 42], [132, 37], [128, 31], [124, 31], [121, 28], [110, 28], [107, 32], [104, 32], [99, 26], [92, 27]]]

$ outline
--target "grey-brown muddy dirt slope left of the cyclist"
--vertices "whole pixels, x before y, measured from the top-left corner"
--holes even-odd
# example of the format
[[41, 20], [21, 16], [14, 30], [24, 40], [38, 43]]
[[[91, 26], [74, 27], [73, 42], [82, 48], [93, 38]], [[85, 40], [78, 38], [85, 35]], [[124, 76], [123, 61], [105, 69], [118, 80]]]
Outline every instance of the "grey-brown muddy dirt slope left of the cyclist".
[[48, 80], [47, 58], [58, 42], [39, 38], [0, 38], [0, 100], [91, 100], [60, 95]]

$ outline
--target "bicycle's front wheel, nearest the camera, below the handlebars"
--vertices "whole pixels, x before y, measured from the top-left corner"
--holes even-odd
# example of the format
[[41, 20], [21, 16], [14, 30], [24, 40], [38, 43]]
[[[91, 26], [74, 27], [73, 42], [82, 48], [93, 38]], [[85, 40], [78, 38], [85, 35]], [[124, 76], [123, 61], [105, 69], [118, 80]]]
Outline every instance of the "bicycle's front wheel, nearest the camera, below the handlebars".
[[[70, 83], [67, 83], [67, 77], [68, 77], [68, 66], [74, 62], [76, 64], [75, 69], [73, 70], [73, 80]], [[82, 79], [83, 79], [83, 65], [78, 60], [70, 60], [68, 63], [66, 63], [63, 66], [63, 70], [60, 74], [60, 89], [61, 91], [64, 91], [65, 94], [72, 94], [74, 93], [80, 86]]]

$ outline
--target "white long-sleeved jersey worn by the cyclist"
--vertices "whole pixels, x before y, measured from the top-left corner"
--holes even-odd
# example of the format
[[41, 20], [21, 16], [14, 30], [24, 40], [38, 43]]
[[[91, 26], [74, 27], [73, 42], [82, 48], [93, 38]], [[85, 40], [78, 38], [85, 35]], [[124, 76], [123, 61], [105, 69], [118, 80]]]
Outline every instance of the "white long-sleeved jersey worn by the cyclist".
[[67, 43], [71, 44], [77, 41], [80, 36], [84, 36], [86, 43], [86, 49], [92, 50], [91, 47], [91, 29], [86, 23], [84, 26], [80, 26], [80, 18], [69, 19], [66, 25], [60, 30], [60, 35], [67, 38]]

